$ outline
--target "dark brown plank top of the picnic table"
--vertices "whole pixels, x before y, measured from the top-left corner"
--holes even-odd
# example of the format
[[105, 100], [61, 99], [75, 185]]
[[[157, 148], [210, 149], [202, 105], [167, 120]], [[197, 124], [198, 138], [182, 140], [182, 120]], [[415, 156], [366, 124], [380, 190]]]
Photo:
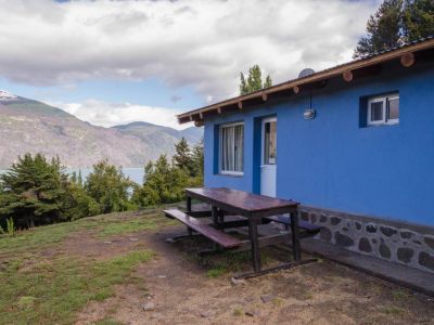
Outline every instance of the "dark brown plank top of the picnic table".
[[244, 214], [272, 214], [296, 208], [294, 200], [280, 199], [227, 187], [186, 188], [187, 195]]

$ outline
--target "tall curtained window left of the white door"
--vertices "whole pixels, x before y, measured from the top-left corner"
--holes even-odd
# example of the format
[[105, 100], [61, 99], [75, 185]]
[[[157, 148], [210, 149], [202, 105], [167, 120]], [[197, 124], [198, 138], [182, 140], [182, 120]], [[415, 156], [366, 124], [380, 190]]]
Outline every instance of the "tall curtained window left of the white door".
[[243, 174], [244, 125], [242, 122], [220, 127], [220, 172]]

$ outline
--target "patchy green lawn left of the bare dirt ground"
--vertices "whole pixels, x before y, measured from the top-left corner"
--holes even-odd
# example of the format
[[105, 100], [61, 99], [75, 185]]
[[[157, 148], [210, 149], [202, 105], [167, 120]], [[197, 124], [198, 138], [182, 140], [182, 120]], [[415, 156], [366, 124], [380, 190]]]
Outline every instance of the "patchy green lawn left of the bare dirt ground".
[[[133, 270], [154, 256], [146, 247], [99, 260], [59, 250], [68, 235], [87, 232], [98, 240], [170, 224], [161, 210], [112, 213], [40, 226], [0, 237], [0, 324], [71, 324], [89, 301], [133, 283]], [[43, 251], [51, 249], [51, 256]], [[111, 324], [107, 320], [104, 324]]]

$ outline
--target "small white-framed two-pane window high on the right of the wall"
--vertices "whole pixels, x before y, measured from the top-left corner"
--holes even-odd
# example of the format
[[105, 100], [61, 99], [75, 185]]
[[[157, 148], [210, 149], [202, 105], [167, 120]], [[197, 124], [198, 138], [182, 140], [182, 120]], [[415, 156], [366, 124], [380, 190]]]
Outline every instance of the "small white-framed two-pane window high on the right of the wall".
[[396, 125], [399, 122], [399, 95], [371, 98], [368, 100], [368, 125]]

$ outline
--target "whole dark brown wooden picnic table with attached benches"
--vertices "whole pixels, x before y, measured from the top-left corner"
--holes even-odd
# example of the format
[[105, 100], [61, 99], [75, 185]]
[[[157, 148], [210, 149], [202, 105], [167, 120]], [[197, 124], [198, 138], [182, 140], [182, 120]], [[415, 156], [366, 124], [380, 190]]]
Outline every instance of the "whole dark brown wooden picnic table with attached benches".
[[[194, 231], [215, 242], [216, 247], [213, 250], [214, 252], [221, 250], [221, 248], [250, 248], [252, 250], [253, 272], [240, 274], [235, 277], [245, 278], [258, 276], [277, 270], [290, 269], [315, 261], [315, 259], [302, 259], [298, 203], [226, 187], [186, 188], [186, 194], [187, 212], [166, 210], [166, 216], [183, 222], [188, 226], [190, 235]], [[210, 210], [193, 211], [193, 198], [208, 204]], [[279, 218], [285, 214], [290, 216], [286, 219], [286, 224], [291, 227], [290, 234], [258, 235], [259, 224], [270, 221], [279, 222]], [[237, 218], [235, 220], [232, 218], [230, 221], [226, 221], [225, 218], [227, 216], [237, 216]], [[212, 218], [212, 224], [201, 222], [200, 218], [205, 217]], [[247, 226], [248, 240], [240, 240], [225, 233], [227, 229], [237, 229], [241, 226]], [[306, 231], [309, 232], [309, 225], [304, 224], [304, 229], [305, 233]], [[310, 229], [310, 231], [312, 231], [312, 229]], [[270, 269], [261, 269], [260, 247], [288, 242], [291, 243], [293, 261]]]

